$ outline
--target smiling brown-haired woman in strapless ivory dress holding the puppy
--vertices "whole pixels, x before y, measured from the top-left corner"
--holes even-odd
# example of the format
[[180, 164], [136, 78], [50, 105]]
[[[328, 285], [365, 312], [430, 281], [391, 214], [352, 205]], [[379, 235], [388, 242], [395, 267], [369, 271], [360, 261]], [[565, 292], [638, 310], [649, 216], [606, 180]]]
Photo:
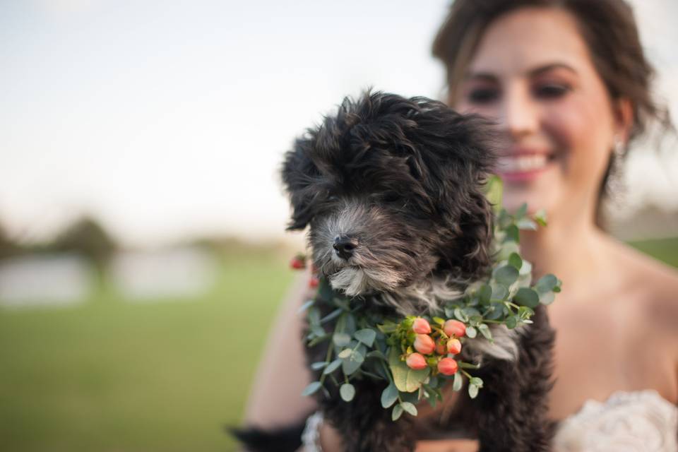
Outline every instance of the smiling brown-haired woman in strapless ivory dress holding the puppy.
[[[670, 125], [650, 96], [652, 69], [630, 8], [622, 0], [457, 0], [434, 54], [446, 64], [450, 105], [491, 117], [500, 129], [504, 206], [527, 202], [549, 216], [549, 226], [523, 234], [521, 244], [535, 277], [564, 281], [548, 308], [557, 331], [549, 396], [549, 414], [561, 421], [556, 450], [646, 441], [675, 450], [678, 274], [605, 234], [600, 215], [629, 143], [650, 121]], [[289, 368], [292, 359], [296, 384], [281, 394], [260, 372], [247, 415], [253, 422], [285, 422], [311, 408], [295, 397], [307, 374], [292, 318], [280, 323], [291, 328], [266, 362]], [[328, 426], [321, 442], [340, 450]], [[476, 449], [458, 440], [417, 447]]]

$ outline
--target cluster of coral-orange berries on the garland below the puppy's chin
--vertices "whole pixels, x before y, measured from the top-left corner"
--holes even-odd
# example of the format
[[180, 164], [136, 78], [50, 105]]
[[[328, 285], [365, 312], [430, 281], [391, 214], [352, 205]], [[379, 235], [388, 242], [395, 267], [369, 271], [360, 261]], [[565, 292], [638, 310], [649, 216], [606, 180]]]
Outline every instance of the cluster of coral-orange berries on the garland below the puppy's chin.
[[435, 317], [432, 326], [427, 319], [417, 317], [412, 320], [411, 333], [407, 336], [405, 364], [414, 370], [431, 367], [443, 375], [456, 374], [459, 367], [452, 356], [461, 352], [459, 339], [465, 334], [466, 326], [458, 320]]

